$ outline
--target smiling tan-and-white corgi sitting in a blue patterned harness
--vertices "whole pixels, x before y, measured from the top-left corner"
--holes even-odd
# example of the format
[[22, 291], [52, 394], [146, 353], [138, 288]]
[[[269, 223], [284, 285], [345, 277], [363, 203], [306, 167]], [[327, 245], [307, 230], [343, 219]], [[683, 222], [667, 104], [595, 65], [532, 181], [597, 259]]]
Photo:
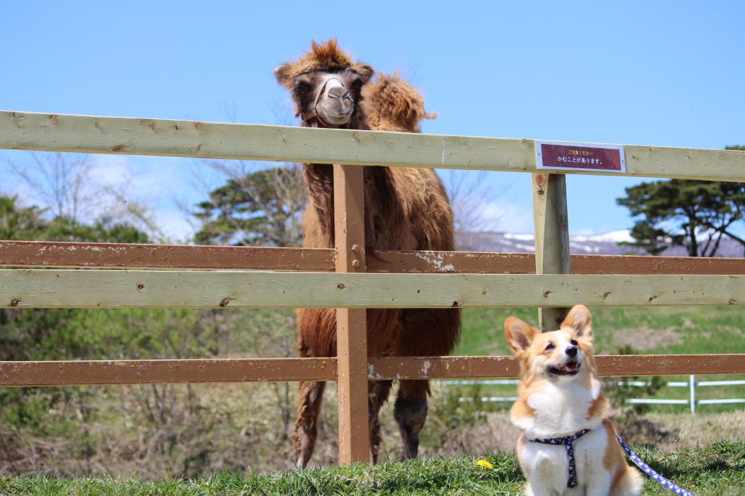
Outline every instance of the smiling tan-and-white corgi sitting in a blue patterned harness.
[[510, 422], [521, 431], [516, 451], [525, 494], [639, 495], [641, 474], [627, 465], [606, 419], [586, 306], [574, 306], [553, 332], [510, 317], [504, 334], [521, 368]]

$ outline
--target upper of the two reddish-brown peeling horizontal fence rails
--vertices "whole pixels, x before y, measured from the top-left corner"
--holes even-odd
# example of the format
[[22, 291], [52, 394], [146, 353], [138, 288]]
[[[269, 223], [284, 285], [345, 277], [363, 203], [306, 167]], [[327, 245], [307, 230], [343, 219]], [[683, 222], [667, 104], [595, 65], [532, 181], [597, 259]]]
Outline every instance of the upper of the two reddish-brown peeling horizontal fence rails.
[[[331, 248], [0, 241], [0, 266], [334, 271]], [[534, 274], [535, 256], [486, 251], [381, 251], [368, 272]], [[574, 274], [745, 274], [745, 258], [571, 255]]]

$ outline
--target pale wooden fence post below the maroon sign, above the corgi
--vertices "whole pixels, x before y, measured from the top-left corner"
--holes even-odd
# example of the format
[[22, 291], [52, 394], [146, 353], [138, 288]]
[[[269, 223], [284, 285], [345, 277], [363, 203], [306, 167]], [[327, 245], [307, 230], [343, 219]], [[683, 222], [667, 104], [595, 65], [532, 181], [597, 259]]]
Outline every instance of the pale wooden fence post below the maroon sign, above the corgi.
[[[536, 274], [569, 274], [569, 220], [566, 176], [533, 174], [533, 225], [536, 233]], [[551, 298], [551, 294], [545, 294]], [[568, 309], [539, 308], [541, 332], [558, 329]]]

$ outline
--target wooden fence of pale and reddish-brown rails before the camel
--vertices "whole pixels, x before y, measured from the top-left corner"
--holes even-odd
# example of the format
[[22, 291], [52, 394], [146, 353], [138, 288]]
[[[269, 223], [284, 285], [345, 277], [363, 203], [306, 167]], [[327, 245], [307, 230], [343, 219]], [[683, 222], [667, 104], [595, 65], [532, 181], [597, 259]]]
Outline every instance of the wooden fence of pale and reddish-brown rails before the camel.
[[[0, 112], [0, 149], [335, 164], [335, 249], [0, 241], [0, 265], [16, 267], [0, 270], [0, 307], [337, 308], [337, 358], [5, 361], [0, 387], [337, 381], [340, 463], [369, 460], [368, 379], [518, 375], [507, 356], [367, 358], [365, 308], [536, 306], [545, 328], [575, 303], [745, 301], [745, 259], [570, 257], [564, 173], [598, 173], [547, 174], [532, 140]], [[745, 152], [624, 151], [622, 175], [745, 181]], [[368, 259], [361, 165], [533, 173], [536, 254], [387, 251]], [[597, 364], [603, 376], [745, 373], [743, 354], [600, 355]]]

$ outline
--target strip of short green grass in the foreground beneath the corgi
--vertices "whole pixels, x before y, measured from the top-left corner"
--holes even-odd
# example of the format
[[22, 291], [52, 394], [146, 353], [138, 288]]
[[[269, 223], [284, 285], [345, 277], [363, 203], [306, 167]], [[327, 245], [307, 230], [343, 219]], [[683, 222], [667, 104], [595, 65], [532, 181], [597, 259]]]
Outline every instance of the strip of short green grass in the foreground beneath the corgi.
[[[639, 449], [657, 471], [681, 486], [706, 495], [745, 495], [745, 443], [717, 442], [675, 453]], [[0, 477], [0, 495], [208, 496], [208, 495], [519, 495], [524, 480], [513, 455], [409, 460], [378, 466], [352, 466], [276, 474], [223, 472], [194, 480], [141, 481], [129, 478], [65, 479], [44, 475]], [[650, 479], [644, 495], [670, 494]]]

